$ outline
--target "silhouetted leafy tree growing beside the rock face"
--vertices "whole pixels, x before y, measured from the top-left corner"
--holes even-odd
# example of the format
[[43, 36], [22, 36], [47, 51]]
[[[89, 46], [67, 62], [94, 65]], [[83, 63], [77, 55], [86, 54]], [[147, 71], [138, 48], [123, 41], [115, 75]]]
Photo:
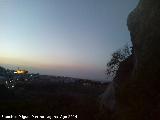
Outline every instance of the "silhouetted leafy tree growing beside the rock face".
[[128, 58], [131, 55], [131, 47], [129, 45], [125, 45], [123, 48], [118, 49], [111, 55], [110, 61], [106, 65], [106, 75], [107, 79], [113, 79], [116, 75], [116, 72], [119, 68], [119, 64]]

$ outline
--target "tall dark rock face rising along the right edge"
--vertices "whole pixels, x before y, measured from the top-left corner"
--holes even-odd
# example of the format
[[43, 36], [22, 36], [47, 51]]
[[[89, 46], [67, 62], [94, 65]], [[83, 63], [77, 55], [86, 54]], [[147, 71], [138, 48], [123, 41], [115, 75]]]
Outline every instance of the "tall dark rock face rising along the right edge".
[[118, 83], [114, 115], [118, 120], [159, 120], [160, 0], [140, 0], [127, 25], [133, 43], [133, 67], [124, 80], [117, 77], [113, 81]]

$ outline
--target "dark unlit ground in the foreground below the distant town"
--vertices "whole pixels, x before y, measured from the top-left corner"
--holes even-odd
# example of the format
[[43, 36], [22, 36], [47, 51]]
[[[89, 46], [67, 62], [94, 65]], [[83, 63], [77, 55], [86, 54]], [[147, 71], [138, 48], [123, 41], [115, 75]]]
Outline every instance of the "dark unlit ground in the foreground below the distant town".
[[42, 81], [21, 82], [13, 89], [1, 85], [0, 112], [1, 115], [77, 115], [78, 119], [97, 120], [102, 117], [98, 98], [106, 86]]

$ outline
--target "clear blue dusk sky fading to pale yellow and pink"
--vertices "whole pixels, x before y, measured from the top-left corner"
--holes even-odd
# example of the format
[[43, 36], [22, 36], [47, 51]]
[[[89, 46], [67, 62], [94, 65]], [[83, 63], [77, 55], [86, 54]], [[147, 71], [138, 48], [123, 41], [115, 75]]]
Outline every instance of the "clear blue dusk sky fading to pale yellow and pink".
[[138, 0], [0, 0], [0, 65], [105, 80]]

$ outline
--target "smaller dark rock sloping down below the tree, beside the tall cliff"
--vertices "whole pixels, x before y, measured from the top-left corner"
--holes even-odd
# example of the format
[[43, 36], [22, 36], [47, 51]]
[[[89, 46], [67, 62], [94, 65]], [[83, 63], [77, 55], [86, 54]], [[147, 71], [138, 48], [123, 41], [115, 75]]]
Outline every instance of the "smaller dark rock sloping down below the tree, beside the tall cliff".
[[129, 56], [126, 60], [120, 63], [119, 69], [116, 73], [113, 81], [108, 85], [106, 91], [100, 96], [101, 111], [106, 111], [106, 114], [112, 114], [112, 118], [114, 117], [114, 112], [116, 110], [116, 96], [118, 94], [117, 91], [121, 88], [121, 86], [129, 79], [133, 71], [133, 55]]

